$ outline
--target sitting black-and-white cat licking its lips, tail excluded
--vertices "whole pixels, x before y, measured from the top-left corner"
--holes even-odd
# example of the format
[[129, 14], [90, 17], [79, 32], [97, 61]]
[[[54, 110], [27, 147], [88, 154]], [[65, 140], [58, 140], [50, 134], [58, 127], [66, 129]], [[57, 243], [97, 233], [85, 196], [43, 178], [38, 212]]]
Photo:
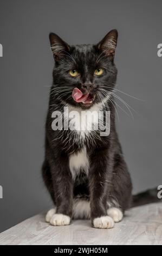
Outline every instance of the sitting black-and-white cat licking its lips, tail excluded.
[[[112, 228], [122, 220], [132, 203], [132, 184], [115, 129], [113, 88], [117, 70], [114, 53], [118, 32], [112, 30], [99, 44], [69, 46], [51, 33], [54, 54], [53, 85], [46, 123], [46, 155], [43, 179], [56, 208], [46, 221], [51, 225], [68, 225], [72, 218], [90, 218], [95, 228]], [[69, 114], [76, 111], [79, 118], [70, 125], [74, 129], [52, 127], [53, 112]], [[94, 126], [102, 112], [110, 111], [110, 133], [100, 136]], [[93, 113], [93, 129], [81, 119], [81, 113]], [[66, 114], [68, 124], [72, 117]], [[62, 120], [61, 117], [57, 120]], [[81, 129], [81, 124], [85, 129]], [[89, 121], [89, 119], [88, 119]], [[68, 128], [70, 127], [68, 126]], [[72, 127], [71, 127], [72, 128]], [[54, 131], [55, 130], [55, 131]]]

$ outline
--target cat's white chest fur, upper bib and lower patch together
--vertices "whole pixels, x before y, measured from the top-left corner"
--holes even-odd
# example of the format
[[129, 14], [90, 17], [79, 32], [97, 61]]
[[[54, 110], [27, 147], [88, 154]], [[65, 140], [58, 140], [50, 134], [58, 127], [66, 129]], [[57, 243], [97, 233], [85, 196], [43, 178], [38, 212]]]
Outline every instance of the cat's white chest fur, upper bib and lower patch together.
[[[107, 99], [108, 98], [106, 98], [106, 100]], [[77, 151], [69, 156], [69, 168], [74, 180], [81, 171], [88, 175], [89, 159], [84, 141], [87, 137], [90, 139], [90, 133], [94, 131], [94, 127], [95, 129], [98, 127], [100, 118], [99, 112], [103, 109], [104, 103], [104, 101], [96, 103], [88, 110], [83, 110], [79, 107], [73, 107], [71, 105], [67, 106], [68, 116], [65, 118], [68, 118], [69, 120], [70, 130], [74, 131], [73, 141], [83, 146], [80, 151]], [[77, 112], [75, 119], [73, 119], [74, 112]], [[87, 118], [82, 119], [82, 117]], [[93, 138], [91, 139], [93, 145]]]

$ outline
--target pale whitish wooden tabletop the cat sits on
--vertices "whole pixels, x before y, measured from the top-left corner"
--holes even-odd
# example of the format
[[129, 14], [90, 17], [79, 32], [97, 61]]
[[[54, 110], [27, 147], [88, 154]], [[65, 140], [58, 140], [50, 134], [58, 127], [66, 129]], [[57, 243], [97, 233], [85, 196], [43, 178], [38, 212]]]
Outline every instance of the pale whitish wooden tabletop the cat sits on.
[[36, 215], [0, 234], [0, 245], [162, 245], [162, 204], [132, 208], [113, 229], [95, 229], [90, 221], [53, 227]]

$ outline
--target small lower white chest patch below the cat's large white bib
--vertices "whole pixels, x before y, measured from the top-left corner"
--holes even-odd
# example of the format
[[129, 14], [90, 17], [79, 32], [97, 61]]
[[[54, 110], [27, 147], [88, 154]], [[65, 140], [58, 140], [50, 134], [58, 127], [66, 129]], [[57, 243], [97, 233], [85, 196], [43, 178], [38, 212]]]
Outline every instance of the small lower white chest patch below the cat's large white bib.
[[69, 168], [74, 180], [81, 170], [88, 175], [89, 159], [85, 147], [69, 156]]

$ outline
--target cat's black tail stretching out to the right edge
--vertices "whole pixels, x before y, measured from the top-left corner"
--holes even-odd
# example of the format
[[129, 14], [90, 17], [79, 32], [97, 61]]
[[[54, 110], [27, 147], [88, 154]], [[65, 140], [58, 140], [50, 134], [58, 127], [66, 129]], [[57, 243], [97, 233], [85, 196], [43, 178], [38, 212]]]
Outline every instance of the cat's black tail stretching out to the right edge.
[[158, 198], [157, 188], [152, 188], [151, 190], [146, 190], [133, 196], [131, 207], [160, 202], [162, 203], [162, 198]]

